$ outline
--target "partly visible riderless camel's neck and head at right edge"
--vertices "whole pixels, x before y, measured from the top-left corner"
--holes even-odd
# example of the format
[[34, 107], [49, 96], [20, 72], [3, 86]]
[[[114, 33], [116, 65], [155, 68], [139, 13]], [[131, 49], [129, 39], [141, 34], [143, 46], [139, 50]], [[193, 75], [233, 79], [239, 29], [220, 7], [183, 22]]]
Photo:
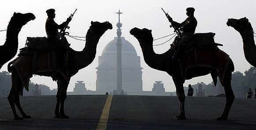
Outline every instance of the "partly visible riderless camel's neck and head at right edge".
[[254, 57], [256, 56], [256, 46], [251, 23], [246, 17], [241, 19], [228, 19], [227, 26], [233, 27], [240, 33], [244, 44], [245, 59], [253, 67], [256, 67], [256, 58]]

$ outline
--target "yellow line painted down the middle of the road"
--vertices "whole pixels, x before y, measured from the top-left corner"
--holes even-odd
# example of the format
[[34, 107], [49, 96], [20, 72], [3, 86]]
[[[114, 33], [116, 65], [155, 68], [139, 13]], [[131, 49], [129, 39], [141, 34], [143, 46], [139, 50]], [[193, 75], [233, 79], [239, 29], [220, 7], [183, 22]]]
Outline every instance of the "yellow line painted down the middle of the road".
[[100, 117], [100, 120], [99, 120], [96, 130], [106, 130], [107, 124], [108, 124], [108, 119], [109, 119], [109, 110], [110, 110], [112, 98], [113, 98], [112, 94], [107, 97], [107, 100], [106, 100], [104, 108], [102, 110], [102, 115]]

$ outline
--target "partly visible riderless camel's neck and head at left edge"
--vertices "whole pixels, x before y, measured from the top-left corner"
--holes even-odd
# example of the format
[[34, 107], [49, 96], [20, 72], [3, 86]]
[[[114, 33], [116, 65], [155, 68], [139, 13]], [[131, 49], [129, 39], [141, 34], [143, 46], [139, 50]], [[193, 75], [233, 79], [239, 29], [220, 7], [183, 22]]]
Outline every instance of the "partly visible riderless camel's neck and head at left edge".
[[0, 46], [0, 69], [11, 60], [18, 51], [18, 35], [21, 28], [36, 17], [32, 13], [15, 13], [7, 26], [6, 41]]

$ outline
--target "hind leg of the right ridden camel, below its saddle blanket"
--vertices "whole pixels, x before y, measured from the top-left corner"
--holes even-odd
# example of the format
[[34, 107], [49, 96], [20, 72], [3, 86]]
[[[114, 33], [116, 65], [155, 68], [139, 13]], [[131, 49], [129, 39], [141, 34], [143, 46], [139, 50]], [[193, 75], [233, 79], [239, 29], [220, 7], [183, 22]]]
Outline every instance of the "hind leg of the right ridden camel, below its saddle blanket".
[[231, 76], [232, 76], [232, 72], [227, 72], [227, 74], [224, 78], [223, 86], [224, 86], [224, 90], [225, 90], [225, 94], [226, 94], [226, 105], [225, 105], [224, 111], [222, 112], [220, 117], [217, 118], [217, 120], [226, 120], [228, 118], [230, 108], [235, 99], [233, 90], [231, 88]]

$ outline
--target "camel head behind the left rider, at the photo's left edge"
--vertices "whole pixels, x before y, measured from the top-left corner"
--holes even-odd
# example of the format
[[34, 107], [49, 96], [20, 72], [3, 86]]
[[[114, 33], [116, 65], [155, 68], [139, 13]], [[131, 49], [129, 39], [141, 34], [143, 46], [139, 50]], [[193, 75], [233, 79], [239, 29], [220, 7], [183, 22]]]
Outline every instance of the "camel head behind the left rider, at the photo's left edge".
[[10, 23], [15, 25], [18, 29], [21, 29], [27, 22], [34, 20], [36, 17], [32, 13], [13, 13]]

